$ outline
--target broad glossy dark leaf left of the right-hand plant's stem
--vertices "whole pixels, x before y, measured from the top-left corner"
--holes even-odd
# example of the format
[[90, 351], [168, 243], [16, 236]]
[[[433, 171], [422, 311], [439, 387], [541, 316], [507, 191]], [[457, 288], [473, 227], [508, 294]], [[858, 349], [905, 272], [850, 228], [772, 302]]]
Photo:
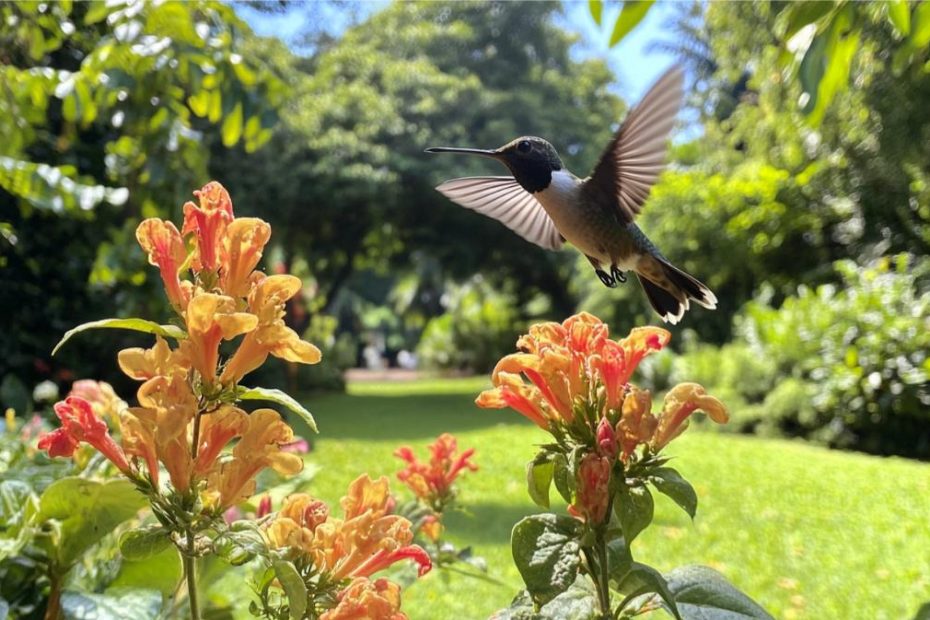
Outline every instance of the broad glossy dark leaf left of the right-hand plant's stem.
[[538, 603], [564, 592], [578, 575], [578, 521], [571, 517], [540, 514], [518, 522], [511, 534], [517, 570]]

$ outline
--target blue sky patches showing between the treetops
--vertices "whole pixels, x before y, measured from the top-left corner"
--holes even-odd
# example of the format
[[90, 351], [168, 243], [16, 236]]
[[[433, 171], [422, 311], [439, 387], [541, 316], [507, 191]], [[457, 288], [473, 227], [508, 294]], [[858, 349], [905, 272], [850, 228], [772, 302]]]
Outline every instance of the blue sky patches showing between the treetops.
[[[386, 2], [381, 0], [360, 5], [363, 12], [376, 11]], [[307, 4], [313, 11], [291, 11], [284, 15], [267, 15], [238, 6], [239, 14], [259, 34], [278, 36], [289, 40], [304, 27], [306, 20], [322, 19], [332, 24], [336, 32], [344, 28], [346, 16], [329, 4]], [[674, 14], [674, 3], [657, 2], [646, 18], [616, 47], [609, 48], [610, 26], [620, 12], [618, 3], [604, 7], [603, 23], [599, 27], [591, 19], [587, 0], [564, 2], [564, 15], [559, 25], [580, 35], [573, 53], [578, 58], [602, 58], [617, 76], [617, 92], [626, 101], [633, 103], [646, 91], [659, 75], [674, 63], [668, 54], [647, 51], [648, 45], [663, 38], [663, 25]]]

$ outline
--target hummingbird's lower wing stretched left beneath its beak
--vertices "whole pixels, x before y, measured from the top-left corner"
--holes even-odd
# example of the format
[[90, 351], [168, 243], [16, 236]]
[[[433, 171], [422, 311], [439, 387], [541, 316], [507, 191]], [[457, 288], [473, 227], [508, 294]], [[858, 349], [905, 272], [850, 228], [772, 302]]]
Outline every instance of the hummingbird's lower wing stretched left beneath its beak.
[[465, 177], [436, 187], [446, 198], [477, 211], [546, 250], [562, 247], [562, 235], [549, 214], [513, 177]]

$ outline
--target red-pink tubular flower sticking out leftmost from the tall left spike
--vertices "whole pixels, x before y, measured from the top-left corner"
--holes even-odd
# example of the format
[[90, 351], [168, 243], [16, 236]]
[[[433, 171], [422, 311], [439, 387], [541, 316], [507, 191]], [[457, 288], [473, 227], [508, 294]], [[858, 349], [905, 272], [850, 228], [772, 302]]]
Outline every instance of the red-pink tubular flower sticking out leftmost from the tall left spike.
[[81, 442], [88, 443], [110, 460], [127, 476], [132, 468], [122, 449], [110, 437], [106, 422], [94, 414], [91, 404], [80, 396], [69, 396], [55, 403], [55, 414], [61, 428], [39, 438], [39, 449], [49, 456], [71, 456]]

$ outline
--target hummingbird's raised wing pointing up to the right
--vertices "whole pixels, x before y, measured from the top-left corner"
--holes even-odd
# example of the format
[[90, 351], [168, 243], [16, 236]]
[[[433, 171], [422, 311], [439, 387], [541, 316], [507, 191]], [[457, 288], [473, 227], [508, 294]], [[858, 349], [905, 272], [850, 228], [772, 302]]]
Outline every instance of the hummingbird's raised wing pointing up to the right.
[[613, 140], [585, 180], [587, 191], [612, 193], [620, 217], [632, 222], [643, 208], [652, 185], [665, 168], [668, 134], [681, 107], [684, 73], [665, 72], [623, 120]]

